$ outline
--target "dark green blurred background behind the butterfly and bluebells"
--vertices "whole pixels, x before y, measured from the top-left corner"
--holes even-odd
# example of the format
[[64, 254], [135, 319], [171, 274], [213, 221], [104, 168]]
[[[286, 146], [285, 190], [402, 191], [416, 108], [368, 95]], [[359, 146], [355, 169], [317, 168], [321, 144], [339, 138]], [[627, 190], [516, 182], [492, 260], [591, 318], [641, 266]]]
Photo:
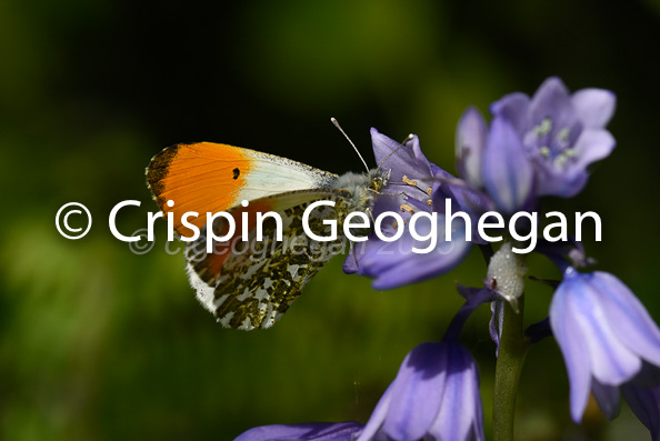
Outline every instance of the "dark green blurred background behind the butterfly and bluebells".
[[[181, 253], [130, 251], [108, 228], [146, 225], [156, 204], [143, 170], [163, 147], [216, 141], [333, 172], [361, 164], [340, 120], [373, 163], [369, 128], [419, 134], [454, 171], [453, 133], [469, 104], [532, 93], [560, 76], [608, 88], [618, 148], [564, 212], [597, 211], [599, 268], [618, 274], [660, 320], [656, 1], [0, 1], [0, 438], [229, 440], [266, 423], [364, 422], [406, 353], [441, 338], [479, 285], [477, 251], [440, 279], [387, 292], [344, 275], [341, 259], [268, 331], [221, 329], [194, 300]], [[86, 204], [91, 232], [62, 238], [54, 216]], [[74, 223], [73, 219], [72, 223]], [[170, 251], [177, 250], [174, 244]], [[541, 258], [534, 275], [557, 272]], [[530, 284], [527, 321], [548, 311]], [[490, 432], [489, 311], [464, 344], [482, 377]], [[528, 357], [520, 440], [647, 439], [624, 408], [608, 423], [568, 413], [553, 341]]]

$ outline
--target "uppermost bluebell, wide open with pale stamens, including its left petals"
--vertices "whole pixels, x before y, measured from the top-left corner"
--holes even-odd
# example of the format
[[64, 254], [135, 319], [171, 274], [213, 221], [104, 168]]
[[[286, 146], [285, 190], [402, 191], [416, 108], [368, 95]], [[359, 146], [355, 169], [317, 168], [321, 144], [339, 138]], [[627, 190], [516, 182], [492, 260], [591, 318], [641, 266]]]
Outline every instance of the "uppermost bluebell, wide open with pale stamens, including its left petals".
[[614, 107], [608, 90], [571, 96], [560, 79], [549, 78], [531, 99], [518, 92], [494, 102], [488, 128], [469, 108], [457, 128], [459, 173], [508, 214], [529, 211], [539, 196], [573, 197], [587, 183], [588, 166], [614, 148], [604, 129]]

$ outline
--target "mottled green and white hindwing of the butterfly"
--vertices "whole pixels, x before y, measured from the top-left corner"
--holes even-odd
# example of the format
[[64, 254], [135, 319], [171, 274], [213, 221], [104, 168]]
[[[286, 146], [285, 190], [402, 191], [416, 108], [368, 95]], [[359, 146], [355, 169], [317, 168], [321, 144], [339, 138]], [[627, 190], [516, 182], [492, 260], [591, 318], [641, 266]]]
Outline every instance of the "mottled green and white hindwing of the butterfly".
[[[250, 201], [250, 206], [272, 207], [282, 219], [282, 241], [276, 240], [276, 221], [263, 221], [263, 240], [257, 229], [241, 238], [240, 224], [227, 242], [214, 242], [213, 253], [206, 252], [207, 231], [187, 248], [189, 275], [198, 299], [227, 328], [251, 330], [271, 327], [300, 295], [302, 288], [334, 254], [347, 251], [342, 235], [346, 216], [352, 211], [349, 190], [302, 190]], [[309, 238], [302, 225], [304, 210], [314, 201], [329, 200], [334, 207], [318, 207], [310, 212], [309, 227], [321, 237], [330, 235], [324, 220], [336, 220], [338, 238], [319, 242]], [[239, 217], [241, 207], [230, 211]], [[218, 218], [213, 231], [227, 231], [227, 220]]]

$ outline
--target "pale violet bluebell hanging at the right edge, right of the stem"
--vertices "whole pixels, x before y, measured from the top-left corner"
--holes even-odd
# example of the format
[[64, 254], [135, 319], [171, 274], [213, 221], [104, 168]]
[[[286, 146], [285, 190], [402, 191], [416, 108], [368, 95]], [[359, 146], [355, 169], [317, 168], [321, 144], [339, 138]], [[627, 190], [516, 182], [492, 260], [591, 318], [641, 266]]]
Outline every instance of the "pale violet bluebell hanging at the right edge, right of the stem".
[[660, 365], [660, 329], [630, 289], [607, 272], [568, 267], [550, 304], [550, 327], [567, 365], [576, 422], [590, 392], [611, 418], [620, 387], [643, 364]]

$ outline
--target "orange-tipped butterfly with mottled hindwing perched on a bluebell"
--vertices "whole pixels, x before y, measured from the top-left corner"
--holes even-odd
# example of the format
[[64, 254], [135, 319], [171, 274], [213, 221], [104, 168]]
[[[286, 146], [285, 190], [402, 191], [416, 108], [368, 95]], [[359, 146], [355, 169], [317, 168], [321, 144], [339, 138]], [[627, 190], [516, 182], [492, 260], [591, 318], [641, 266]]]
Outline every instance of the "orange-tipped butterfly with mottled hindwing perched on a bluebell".
[[[187, 271], [198, 300], [223, 327], [242, 330], [273, 325], [346, 244], [341, 234], [333, 242], [310, 240], [302, 228], [306, 209], [316, 201], [334, 202], [333, 208], [310, 210], [309, 225], [321, 235], [329, 229], [323, 221], [337, 220], [341, 232], [348, 213], [373, 207], [389, 174], [378, 168], [337, 176], [273, 154], [211, 142], [166, 148], [147, 168], [148, 186], [163, 213], [173, 213], [177, 233], [190, 238], [190, 227], [200, 230], [199, 238], [186, 247]], [[233, 234], [227, 241], [213, 240], [212, 252], [208, 252], [206, 216], [187, 224], [182, 214], [190, 211], [227, 211], [236, 222]], [[278, 225], [273, 218], [263, 220], [262, 240], [257, 240], [258, 212], [280, 216], [281, 241], [274, 240]], [[211, 228], [214, 237], [227, 234], [228, 220], [214, 219]]]

